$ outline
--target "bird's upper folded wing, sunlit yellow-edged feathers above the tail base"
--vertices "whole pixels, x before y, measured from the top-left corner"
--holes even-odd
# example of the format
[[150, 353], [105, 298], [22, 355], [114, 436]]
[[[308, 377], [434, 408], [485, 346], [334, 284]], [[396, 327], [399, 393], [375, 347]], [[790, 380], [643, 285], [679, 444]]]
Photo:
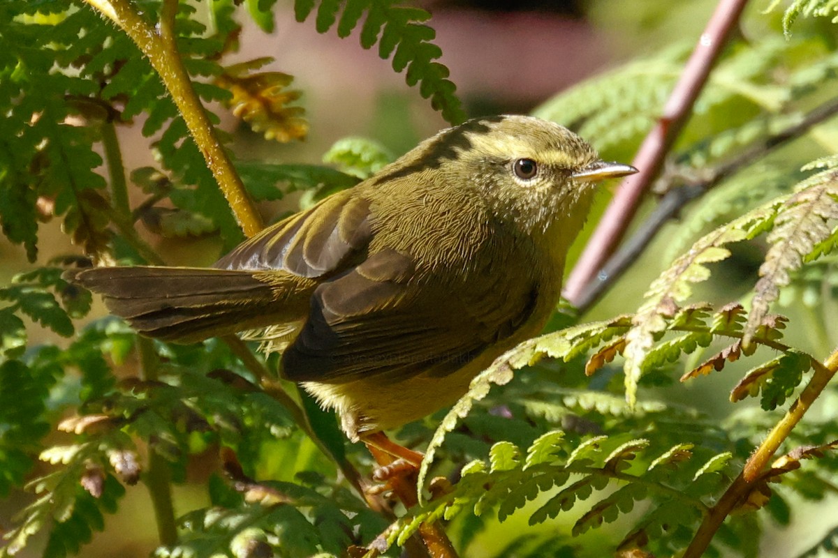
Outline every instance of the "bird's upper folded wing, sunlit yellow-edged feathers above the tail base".
[[344, 190], [266, 228], [214, 267], [319, 279], [359, 263], [371, 236], [369, 202]]

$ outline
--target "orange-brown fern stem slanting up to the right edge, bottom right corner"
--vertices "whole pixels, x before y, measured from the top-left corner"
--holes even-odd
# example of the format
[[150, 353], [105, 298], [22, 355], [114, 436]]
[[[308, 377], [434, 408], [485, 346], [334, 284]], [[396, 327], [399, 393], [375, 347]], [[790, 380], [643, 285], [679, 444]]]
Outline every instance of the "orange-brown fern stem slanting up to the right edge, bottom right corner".
[[815, 399], [820, 396], [820, 392], [823, 392], [836, 371], [838, 371], [838, 351], [833, 352], [822, 366], [815, 366], [815, 374], [804, 387], [803, 392], [800, 392], [797, 400], [789, 407], [789, 412], [786, 412], [785, 417], [777, 423], [757, 451], [747, 460], [742, 472], [727, 488], [725, 494], [722, 494], [722, 498], [705, 515], [690, 546], [685, 551], [684, 558], [700, 558], [704, 555], [716, 531], [737, 504], [753, 490], [756, 486], [754, 481], [759, 479], [765, 463], [768, 463], [768, 459], [773, 457], [780, 444], [789, 437], [789, 433], [803, 418]]

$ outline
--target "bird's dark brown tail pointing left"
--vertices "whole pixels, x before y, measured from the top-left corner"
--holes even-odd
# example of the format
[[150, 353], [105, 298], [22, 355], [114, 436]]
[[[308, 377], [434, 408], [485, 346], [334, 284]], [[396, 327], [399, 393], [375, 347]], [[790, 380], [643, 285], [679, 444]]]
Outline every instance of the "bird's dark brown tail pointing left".
[[[247, 270], [114, 267], [72, 270], [65, 279], [101, 294], [109, 310], [144, 335], [194, 342], [291, 318], [272, 284]], [[280, 297], [281, 298], [281, 297]]]

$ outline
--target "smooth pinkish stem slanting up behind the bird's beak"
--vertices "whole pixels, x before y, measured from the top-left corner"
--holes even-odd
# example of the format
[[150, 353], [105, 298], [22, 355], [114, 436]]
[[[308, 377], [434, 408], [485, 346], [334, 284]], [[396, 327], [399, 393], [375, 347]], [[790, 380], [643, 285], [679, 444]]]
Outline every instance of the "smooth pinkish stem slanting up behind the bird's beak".
[[692, 105], [706, 84], [710, 69], [732, 35], [747, 0], [721, 0], [707, 23], [684, 73], [667, 101], [663, 115], [646, 136], [632, 165], [640, 171], [623, 180], [565, 286], [565, 298], [578, 307], [582, 290], [596, 278], [617, 248], [637, 212], [641, 198], [658, 176], [666, 154], [689, 120]]

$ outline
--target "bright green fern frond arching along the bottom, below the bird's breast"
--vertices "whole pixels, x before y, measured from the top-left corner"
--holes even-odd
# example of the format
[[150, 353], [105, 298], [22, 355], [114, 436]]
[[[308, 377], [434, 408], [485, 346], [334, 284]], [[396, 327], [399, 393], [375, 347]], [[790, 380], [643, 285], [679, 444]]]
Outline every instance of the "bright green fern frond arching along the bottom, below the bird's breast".
[[[539, 505], [530, 512], [530, 525], [575, 509], [582, 501], [595, 499], [572, 526], [573, 536], [617, 520], [641, 499], [654, 499], [655, 509], [670, 509], [676, 503], [680, 509], [670, 514], [670, 520], [687, 518], [690, 523], [681, 525], [691, 525], [707, 509], [691, 493], [691, 484], [697, 477], [706, 479], [708, 485], [703, 487], [706, 492], [697, 493], [700, 495], [722, 489], [725, 479], [713, 473], [724, 469], [730, 458], [729, 454], [711, 458], [694, 475], [690, 467], [693, 449], [689, 443], [679, 443], [663, 452], [651, 453], [648, 440], [625, 436], [595, 436], [573, 448], [561, 431], [542, 435], [525, 453], [508, 442], [496, 443], [489, 450], [488, 462], [468, 463], [463, 467], [460, 482], [451, 491], [411, 510], [393, 525], [388, 540], [402, 544], [423, 521], [438, 517], [450, 520], [458, 514], [480, 515], [496, 509], [499, 520], [503, 521], [534, 501]], [[580, 478], [574, 479], [575, 476]], [[617, 483], [622, 486], [604, 497], [597, 494]], [[550, 498], [540, 499], [556, 488], [560, 489]], [[655, 518], [662, 520], [653, 512], [641, 525], [654, 529]]]

